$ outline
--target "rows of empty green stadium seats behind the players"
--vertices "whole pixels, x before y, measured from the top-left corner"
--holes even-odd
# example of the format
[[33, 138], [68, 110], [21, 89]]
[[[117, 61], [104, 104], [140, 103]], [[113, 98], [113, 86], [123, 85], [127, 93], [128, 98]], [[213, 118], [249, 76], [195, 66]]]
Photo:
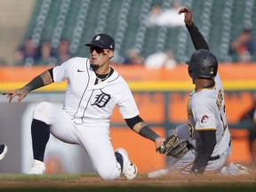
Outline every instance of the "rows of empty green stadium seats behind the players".
[[[146, 26], [152, 4], [168, 9], [173, 0], [37, 0], [24, 39], [32, 36], [36, 44], [50, 40], [57, 47], [61, 38], [70, 41], [70, 52], [84, 56], [84, 43], [96, 33], [108, 33], [116, 39], [116, 52], [124, 56], [137, 48], [146, 58], [154, 52], [172, 50], [178, 62], [188, 60], [194, 51], [185, 27]], [[193, 10], [200, 28], [220, 61], [233, 61], [229, 44], [243, 28], [254, 28], [254, 0], [181, 1]], [[256, 32], [253, 31], [255, 35]], [[23, 40], [24, 40], [23, 39]], [[255, 56], [253, 56], [255, 60]]]

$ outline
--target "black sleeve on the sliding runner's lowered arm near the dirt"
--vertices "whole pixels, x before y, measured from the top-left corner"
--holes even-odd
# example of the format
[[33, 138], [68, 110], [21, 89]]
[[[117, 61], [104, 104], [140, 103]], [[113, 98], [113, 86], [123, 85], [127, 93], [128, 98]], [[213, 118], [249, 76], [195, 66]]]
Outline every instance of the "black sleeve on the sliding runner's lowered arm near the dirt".
[[199, 135], [202, 139], [202, 143], [198, 148], [198, 154], [191, 168], [191, 172], [194, 172], [195, 174], [202, 174], [204, 172], [216, 145], [214, 130], [201, 131], [199, 132]]

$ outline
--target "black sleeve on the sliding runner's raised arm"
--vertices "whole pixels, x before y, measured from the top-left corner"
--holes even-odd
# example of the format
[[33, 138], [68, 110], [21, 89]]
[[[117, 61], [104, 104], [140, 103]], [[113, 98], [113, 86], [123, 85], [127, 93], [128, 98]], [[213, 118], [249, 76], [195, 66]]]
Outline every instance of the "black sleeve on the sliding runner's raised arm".
[[201, 32], [198, 30], [196, 25], [192, 22], [191, 25], [186, 25], [188, 28], [189, 35], [191, 37], [192, 43], [194, 44], [194, 47], [196, 50], [198, 49], [204, 49], [209, 51], [209, 46], [204, 39], [204, 36], [201, 34]]

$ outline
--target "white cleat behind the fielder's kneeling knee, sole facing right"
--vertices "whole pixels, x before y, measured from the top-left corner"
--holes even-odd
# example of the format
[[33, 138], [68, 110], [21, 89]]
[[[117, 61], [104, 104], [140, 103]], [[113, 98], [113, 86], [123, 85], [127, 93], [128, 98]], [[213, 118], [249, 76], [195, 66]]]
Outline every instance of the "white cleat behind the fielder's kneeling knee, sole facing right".
[[123, 166], [123, 174], [127, 180], [134, 180], [138, 174], [138, 169], [135, 164], [132, 164], [131, 160], [129, 159], [128, 153], [124, 150], [124, 148], [117, 148], [116, 152], [121, 154], [124, 159], [124, 166]]

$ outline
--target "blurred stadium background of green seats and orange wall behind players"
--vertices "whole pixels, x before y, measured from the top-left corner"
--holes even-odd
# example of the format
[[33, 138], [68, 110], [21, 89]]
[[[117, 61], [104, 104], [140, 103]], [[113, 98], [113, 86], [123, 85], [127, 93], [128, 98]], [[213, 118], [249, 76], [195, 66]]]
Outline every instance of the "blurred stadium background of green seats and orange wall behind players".
[[[135, 47], [144, 58], [154, 52], [172, 50], [176, 60], [183, 64], [194, 51], [187, 29], [184, 26], [148, 28], [146, 25], [148, 12], [153, 4], [169, 9], [173, 1], [0, 0], [0, 61], [4, 66], [0, 71], [0, 91], [17, 88], [47, 68], [12, 68], [15, 50], [28, 37], [32, 37], [38, 46], [48, 40], [53, 48], [58, 47], [60, 39], [68, 39], [70, 52], [84, 57], [88, 55], [84, 43], [91, 41], [96, 33], [104, 32], [116, 39], [116, 60]], [[252, 55], [252, 63], [249, 64], [236, 63], [236, 58], [229, 54], [228, 49], [230, 42], [244, 28], [252, 29], [253, 38], [256, 35], [256, 1], [183, 0], [180, 5], [192, 9], [196, 25], [220, 61], [220, 72], [227, 88], [229, 126], [236, 148], [231, 160], [251, 164], [253, 162], [247, 139], [250, 125], [240, 124], [239, 117], [253, 104], [256, 58]], [[186, 76], [185, 66], [154, 71], [131, 66], [122, 68], [118, 63], [117, 67], [131, 85], [142, 116], [145, 116], [146, 122], [157, 132], [171, 134], [173, 130], [170, 128], [186, 122], [186, 103], [192, 86]], [[146, 73], [148, 76], [141, 75]], [[177, 86], [170, 85], [177, 82]], [[0, 172], [28, 171], [32, 161], [29, 125], [33, 108], [42, 100], [61, 105], [63, 87], [60, 84], [31, 92], [19, 105], [8, 104], [4, 97], [0, 97], [0, 142], [7, 143], [10, 148], [8, 155], [0, 163]], [[116, 111], [112, 126], [114, 147], [121, 144], [128, 148], [141, 172], [155, 171], [165, 166], [166, 159], [155, 154], [154, 145], [140, 140], [128, 130]], [[88, 157], [80, 148], [64, 145], [53, 138], [49, 146], [46, 159], [52, 170], [49, 168], [48, 172], [93, 172]], [[145, 152], [146, 148], [149, 148], [148, 153]], [[141, 151], [145, 153], [141, 154]]]

